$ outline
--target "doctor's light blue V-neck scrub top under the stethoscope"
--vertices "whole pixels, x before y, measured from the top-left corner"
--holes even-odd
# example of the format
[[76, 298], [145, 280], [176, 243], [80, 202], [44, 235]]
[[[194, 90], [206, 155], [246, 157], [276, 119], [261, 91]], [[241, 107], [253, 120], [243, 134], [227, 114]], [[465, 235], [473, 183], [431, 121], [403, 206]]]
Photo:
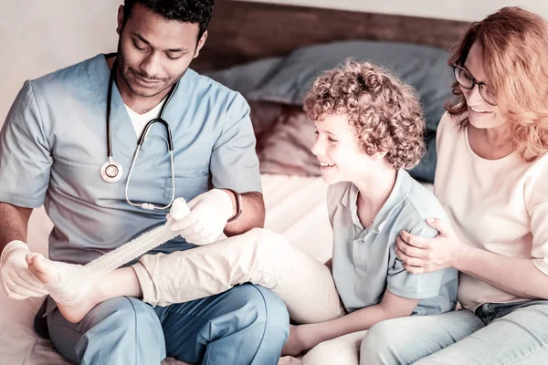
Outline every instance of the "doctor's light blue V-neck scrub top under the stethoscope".
[[[137, 146], [132, 120], [116, 85], [112, 89], [113, 160], [124, 175], [106, 183], [106, 108], [110, 69], [100, 54], [42, 78], [26, 81], [0, 132], [0, 202], [45, 204], [55, 224], [53, 260], [87, 264], [165, 223], [166, 211], [133, 207], [124, 196]], [[246, 100], [188, 69], [163, 114], [174, 141], [175, 197], [190, 201], [212, 185], [260, 192], [255, 136]], [[166, 131], [155, 123], [135, 164], [133, 202], [169, 203], [172, 173]], [[191, 248], [178, 237], [155, 250]]]

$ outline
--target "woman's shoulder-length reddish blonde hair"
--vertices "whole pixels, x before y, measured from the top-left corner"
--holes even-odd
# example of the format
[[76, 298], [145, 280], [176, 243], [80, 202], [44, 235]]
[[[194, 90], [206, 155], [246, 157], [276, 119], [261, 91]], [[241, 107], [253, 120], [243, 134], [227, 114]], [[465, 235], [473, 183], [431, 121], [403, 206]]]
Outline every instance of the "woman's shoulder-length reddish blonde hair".
[[[520, 7], [503, 7], [469, 26], [448, 64], [464, 64], [475, 42], [483, 47], [486, 81], [510, 123], [515, 151], [533, 161], [548, 151], [548, 23]], [[445, 108], [462, 116], [466, 99], [457, 82], [452, 87], [458, 98]], [[461, 127], [468, 123], [460, 121]]]

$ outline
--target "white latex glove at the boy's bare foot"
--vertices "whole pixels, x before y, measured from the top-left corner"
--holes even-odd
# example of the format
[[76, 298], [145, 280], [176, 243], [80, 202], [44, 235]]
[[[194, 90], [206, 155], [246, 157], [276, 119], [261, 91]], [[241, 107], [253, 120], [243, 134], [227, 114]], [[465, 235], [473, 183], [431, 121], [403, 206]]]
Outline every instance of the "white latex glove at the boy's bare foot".
[[31, 252], [22, 241], [12, 241], [2, 251], [0, 282], [7, 297], [21, 300], [27, 297], [44, 297], [48, 294], [46, 287], [28, 271], [25, 259], [28, 254]]

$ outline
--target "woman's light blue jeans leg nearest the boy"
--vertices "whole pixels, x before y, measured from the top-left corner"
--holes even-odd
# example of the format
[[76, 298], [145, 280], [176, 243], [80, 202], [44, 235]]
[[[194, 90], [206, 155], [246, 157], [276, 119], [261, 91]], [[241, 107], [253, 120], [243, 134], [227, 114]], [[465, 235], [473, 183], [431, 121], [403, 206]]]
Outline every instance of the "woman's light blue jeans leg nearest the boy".
[[442, 349], [452, 348], [454, 343], [484, 327], [481, 319], [466, 309], [388, 319], [374, 325], [365, 335], [360, 348], [360, 364], [411, 364]]

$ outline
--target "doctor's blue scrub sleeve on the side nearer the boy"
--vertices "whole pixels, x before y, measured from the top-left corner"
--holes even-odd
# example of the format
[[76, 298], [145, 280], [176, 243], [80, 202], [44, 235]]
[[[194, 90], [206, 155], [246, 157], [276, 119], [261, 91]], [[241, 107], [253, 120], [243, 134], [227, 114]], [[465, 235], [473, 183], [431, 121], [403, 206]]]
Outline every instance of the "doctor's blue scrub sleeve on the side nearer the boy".
[[225, 119], [211, 156], [213, 186], [238, 193], [262, 192], [249, 106], [240, 94], [231, 99]]

